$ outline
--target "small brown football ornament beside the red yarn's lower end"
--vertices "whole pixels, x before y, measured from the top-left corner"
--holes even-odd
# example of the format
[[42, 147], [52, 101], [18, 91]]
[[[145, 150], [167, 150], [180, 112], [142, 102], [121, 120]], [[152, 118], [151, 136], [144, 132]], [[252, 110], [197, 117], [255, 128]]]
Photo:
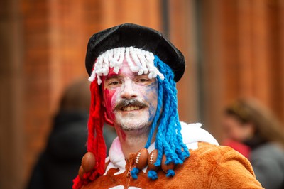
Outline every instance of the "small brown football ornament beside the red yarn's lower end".
[[96, 165], [96, 158], [92, 152], [87, 152], [82, 158], [82, 163], [79, 168], [78, 175], [81, 180], [84, 180], [84, 173], [94, 171], [94, 166]]

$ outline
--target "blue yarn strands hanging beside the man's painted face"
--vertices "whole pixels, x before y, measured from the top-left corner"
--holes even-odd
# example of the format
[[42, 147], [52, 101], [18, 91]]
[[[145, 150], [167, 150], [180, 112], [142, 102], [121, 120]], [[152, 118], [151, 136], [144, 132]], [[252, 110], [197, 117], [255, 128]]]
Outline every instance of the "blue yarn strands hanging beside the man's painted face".
[[[155, 149], [158, 149], [158, 158], [155, 162], [155, 166], [160, 166], [165, 154], [165, 164], [174, 163], [182, 164], [185, 158], [190, 156], [187, 146], [182, 141], [182, 135], [180, 133], [181, 126], [178, 117], [178, 99], [177, 89], [175, 81], [173, 80], [173, 71], [168, 65], [163, 63], [162, 60], [155, 55], [155, 66], [165, 76], [164, 80], [157, 77], [158, 80], [158, 104], [153, 124], [149, 132], [148, 141], [145, 148], [151, 145], [151, 139], [158, 126], [158, 131], [155, 137]], [[160, 110], [163, 108], [162, 114]], [[158, 121], [160, 123], [158, 124]], [[133, 168], [131, 171], [132, 178], [137, 178], [138, 168]], [[166, 176], [173, 176], [175, 172], [168, 170]], [[155, 171], [148, 171], [148, 178], [155, 180], [158, 175]]]

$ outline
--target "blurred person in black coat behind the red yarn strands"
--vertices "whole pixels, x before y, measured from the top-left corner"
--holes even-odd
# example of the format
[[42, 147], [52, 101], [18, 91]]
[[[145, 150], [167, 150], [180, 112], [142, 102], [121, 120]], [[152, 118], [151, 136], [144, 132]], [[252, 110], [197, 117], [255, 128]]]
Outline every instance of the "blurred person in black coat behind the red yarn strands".
[[[47, 146], [33, 169], [28, 189], [72, 188], [72, 179], [77, 175], [87, 150], [90, 101], [87, 80], [75, 80], [67, 87], [60, 99]], [[105, 126], [104, 136], [110, 143], [116, 137], [114, 129]]]

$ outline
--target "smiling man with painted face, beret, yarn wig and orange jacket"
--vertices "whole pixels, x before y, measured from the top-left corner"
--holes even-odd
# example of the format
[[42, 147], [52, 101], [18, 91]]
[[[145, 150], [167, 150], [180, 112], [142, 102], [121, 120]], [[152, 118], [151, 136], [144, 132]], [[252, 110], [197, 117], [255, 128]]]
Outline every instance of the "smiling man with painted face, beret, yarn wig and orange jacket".
[[[73, 188], [261, 188], [244, 156], [179, 121], [185, 60], [161, 33], [132, 23], [95, 33], [86, 68], [88, 153]], [[104, 122], [118, 135], [108, 158]]]

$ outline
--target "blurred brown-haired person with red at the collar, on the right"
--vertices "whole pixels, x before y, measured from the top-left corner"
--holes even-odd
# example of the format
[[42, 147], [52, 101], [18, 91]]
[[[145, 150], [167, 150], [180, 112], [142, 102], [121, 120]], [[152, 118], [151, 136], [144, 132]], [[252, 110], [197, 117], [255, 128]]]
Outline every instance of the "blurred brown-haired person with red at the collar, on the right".
[[224, 145], [249, 158], [264, 188], [284, 188], [284, 128], [255, 99], [237, 99], [225, 109]]

